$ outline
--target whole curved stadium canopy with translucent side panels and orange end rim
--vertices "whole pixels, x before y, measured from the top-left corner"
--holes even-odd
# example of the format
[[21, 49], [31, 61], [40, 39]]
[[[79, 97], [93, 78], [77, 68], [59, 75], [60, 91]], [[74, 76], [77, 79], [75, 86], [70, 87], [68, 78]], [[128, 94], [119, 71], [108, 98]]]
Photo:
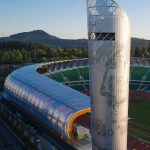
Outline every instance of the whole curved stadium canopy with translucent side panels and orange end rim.
[[5, 81], [4, 97], [74, 143], [73, 122], [90, 112], [89, 97], [39, 74], [38, 67], [23, 67], [11, 73]]

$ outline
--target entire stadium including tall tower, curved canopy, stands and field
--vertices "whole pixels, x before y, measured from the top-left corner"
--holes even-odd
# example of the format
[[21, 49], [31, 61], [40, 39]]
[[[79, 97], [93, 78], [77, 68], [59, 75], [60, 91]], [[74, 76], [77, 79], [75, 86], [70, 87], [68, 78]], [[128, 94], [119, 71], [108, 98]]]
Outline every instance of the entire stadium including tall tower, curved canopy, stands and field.
[[150, 59], [130, 61], [130, 20], [114, 0], [87, 0], [87, 25], [88, 59], [12, 72], [1, 112], [36, 149], [149, 150]]

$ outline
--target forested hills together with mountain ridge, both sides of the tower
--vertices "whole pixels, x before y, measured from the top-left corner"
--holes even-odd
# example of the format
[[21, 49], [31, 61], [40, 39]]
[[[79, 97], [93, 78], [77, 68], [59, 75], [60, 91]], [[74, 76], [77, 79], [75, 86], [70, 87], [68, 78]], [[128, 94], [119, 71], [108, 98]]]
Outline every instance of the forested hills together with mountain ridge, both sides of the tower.
[[[42, 30], [0, 38], [0, 63], [24, 64], [88, 57], [87, 40], [67, 40]], [[132, 38], [132, 57], [150, 57], [150, 41]]]

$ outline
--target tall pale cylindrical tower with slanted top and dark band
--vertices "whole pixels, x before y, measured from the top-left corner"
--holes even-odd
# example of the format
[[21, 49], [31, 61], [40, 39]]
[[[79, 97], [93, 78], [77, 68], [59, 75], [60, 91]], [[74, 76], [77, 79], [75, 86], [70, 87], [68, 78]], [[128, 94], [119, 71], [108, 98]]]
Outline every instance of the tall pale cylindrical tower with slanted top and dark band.
[[130, 23], [114, 0], [87, 0], [93, 150], [127, 150]]

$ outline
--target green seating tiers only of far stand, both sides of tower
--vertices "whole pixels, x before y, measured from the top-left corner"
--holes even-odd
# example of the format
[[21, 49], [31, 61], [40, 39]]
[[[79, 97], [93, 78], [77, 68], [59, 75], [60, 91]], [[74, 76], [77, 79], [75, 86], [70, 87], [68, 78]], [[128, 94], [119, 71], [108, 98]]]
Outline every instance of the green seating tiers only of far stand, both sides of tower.
[[[82, 67], [76, 69], [68, 69], [49, 75], [50, 78], [58, 82], [72, 82], [89, 80], [89, 68]], [[131, 67], [131, 81], [140, 81], [139, 83], [130, 82], [131, 91], [150, 92], [150, 85], [142, 84], [142, 81], [150, 81], [150, 69], [146, 67]], [[71, 88], [87, 92], [89, 85], [74, 85]]]

